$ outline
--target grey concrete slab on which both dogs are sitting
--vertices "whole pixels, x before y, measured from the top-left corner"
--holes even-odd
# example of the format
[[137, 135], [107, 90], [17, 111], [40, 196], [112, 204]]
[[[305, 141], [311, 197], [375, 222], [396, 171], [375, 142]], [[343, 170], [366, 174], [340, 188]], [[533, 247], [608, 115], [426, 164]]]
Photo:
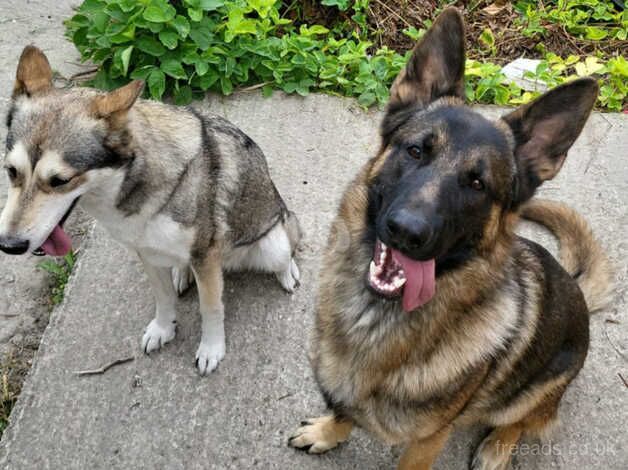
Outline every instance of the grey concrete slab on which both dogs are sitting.
[[[181, 299], [176, 340], [141, 354], [141, 333], [153, 315], [146, 278], [96, 226], [0, 442], [0, 468], [393, 468], [398, 451], [361, 432], [323, 456], [286, 446], [302, 418], [324, 409], [304, 353], [319, 254], [342, 189], [375, 151], [379, 113], [321, 95], [241, 94], [207, 106], [260, 144], [299, 214], [306, 232], [301, 288], [289, 296], [270, 276], [229, 276], [227, 356], [200, 378], [193, 367], [196, 293]], [[628, 388], [618, 376], [628, 378], [627, 135], [626, 116], [594, 115], [543, 191], [586, 214], [618, 266], [619, 284], [613, 307], [592, 320], [591, 352], [561, 406], [563, 425], [551, 446], [521, 448], [518, 469], [619, 470], [628, 461]], [[74, 374], [127, 355], [135, 360], [104, 375]], [[477, 432], [458, 433], [436, 468], [466, 468]]]

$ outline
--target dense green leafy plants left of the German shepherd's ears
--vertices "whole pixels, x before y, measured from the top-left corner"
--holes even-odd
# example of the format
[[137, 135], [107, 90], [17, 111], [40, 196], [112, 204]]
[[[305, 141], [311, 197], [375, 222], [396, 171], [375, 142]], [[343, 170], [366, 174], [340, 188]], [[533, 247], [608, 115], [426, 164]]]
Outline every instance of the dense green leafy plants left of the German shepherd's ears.
[[[355, 13], [363, 14], [366, 3], [353, 3]], [[152, 98], [171, 93], [178, 104], [208, 90], [228, 95], [260, 83], [266, 95], [274, 88], [301, 95], [318, 88], [356, 96], [365, 106], [387, 99], [401, 56], [387, 49], [370, 55], [371, 43], [353, 32], [297, 28], [281, 17], [280, 6], [275, 0], [86, 0], [66, 26], [82, 57], [101, 64], [93, 80], [99, 88], [141, 78]]]

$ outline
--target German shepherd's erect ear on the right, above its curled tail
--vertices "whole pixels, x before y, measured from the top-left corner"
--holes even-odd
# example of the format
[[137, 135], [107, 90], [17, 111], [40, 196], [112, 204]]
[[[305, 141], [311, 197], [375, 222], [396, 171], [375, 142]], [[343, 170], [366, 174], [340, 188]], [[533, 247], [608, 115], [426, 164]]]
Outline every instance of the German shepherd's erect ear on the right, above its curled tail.
[[518, 188], [515, 204], [552, 179], [580, 135], [597, 98], [593, 78], [581, 78], [548, 91], [502, 119], [515, 138]]

